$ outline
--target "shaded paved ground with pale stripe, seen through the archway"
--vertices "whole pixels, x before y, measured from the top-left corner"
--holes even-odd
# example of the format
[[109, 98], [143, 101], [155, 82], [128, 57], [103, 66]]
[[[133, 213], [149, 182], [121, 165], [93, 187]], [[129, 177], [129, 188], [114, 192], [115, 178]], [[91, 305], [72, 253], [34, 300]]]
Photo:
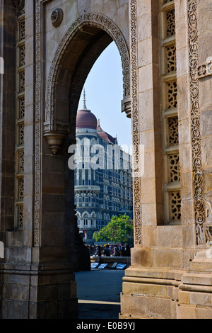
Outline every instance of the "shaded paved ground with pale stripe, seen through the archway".
[[78, 319], [119, 319], [124, 271], [93, 270], [75, 276]]

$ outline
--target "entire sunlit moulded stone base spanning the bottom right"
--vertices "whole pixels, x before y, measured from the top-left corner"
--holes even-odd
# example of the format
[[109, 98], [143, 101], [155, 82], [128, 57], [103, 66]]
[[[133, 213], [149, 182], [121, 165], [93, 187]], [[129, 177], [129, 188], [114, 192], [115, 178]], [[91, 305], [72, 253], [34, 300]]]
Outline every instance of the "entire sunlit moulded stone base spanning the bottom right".
[[129, 267], [119, 318], [212, 319], [212, 259], [207, 251], [198, 252], [188, 269]]

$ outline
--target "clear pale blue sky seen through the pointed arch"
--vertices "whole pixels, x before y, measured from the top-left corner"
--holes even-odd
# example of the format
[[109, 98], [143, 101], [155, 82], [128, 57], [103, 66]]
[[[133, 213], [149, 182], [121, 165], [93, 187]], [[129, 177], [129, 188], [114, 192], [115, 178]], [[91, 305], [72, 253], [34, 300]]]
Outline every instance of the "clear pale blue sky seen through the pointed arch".
[[[131, 145], [131, 120], [122, 113], [122, 62], [111, 43], [93, 65], [86, 84], [86, 106], [100, 119], [102, 130], [118, 137], [119, 145]], [[78, 108], [83, 106], [83, 91]]]

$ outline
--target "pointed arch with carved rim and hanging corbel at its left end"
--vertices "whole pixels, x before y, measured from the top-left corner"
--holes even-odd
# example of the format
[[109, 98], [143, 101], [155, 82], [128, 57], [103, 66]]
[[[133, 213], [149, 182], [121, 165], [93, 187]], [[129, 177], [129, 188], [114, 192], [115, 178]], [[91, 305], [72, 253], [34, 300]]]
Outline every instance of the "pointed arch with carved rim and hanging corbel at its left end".
[[[83, 34], [86, 38], [84, 38]], [[88, 36], [92, 36], [90, 37], [90, 40]], [[83, 50], [83, 47], [81, 46], [82, 50], [79, 51], [78, 58], [76, 55], [73, 55], [73, 52], [71, 52], [71, 45], [73, 45], [75, 50], [77, 50], [77, 47], [80, 45], [81, 40], [77, 40], [77, 38], [82, 39], [82, 45], [83, 43], [85, 43], [85, 45], [88, 43], [88, 45], [86, 45], [87, 49], [85, 47], [85, 50]], [[87, 40], [84, 41], [83, 38]], [[84, 13], [82, 16], [78, 17], [62, 38], [61, 43], [59, 43], [57, 51], [54, 54], [52, 65], [49, 69], [45, 96], [46, 108], [44, 135], [47, 138], [49, 147], [52, 149], [54, 154], [57, 153], [64, 137], [66, 137], [67, 133], [70, 131], [70, 115], [68, 114], [70, 113], [70, 106], [68, 98], [70, 98], [69, 93], [71, 91], [71, 86], [73, 87], [73, 90], [76, 88], [74, 79], [76, 77], [78, 67], [80, 66], [79, 62], [83, 62], [83, 57], [86, 57], [86, 52], [89, 57], [92, 52], [96, 52], [95, 57], [93, 57], [92, 60], [93, 63], [90, 64], [91, 69], [95, 60], [97, 60], [102, 51], [105, 50], [105, 48], [112, 43], [112, 41], [116, 43], [122, 60], [122, 111], [125, 111], [129, 118], [131, 117], [130, 60], [129, 50], [126, 45], [126, 41], [124, 40], [124, 36], [114, 22], [110, 20], [110, 18], [102, 16], [99, 13]], [[102, 47], [100, 50], [96, 46], [98, 43]], [[93, 49], [96, 51], [93, 51], [90, 45], [94, 45]], [[88, 50], [89, 47], [90, 50]], [[66, 64], [64, 65], [65, 62]], [[90, 69], [88, 69], [88, 73], [90, 72]], [[85, 81], [86, 77], [83, 83]], [[80, 89], [77, 88], [76, 90], [79, 91]], [[64, 110], [64, 115], [59, 115], [57, 113], [57, 103], [59, 103], [57, 99], [59, 98], [61, 108]], [[76, 105], [78, 106], [77, 99], [79, 99], [78, 96], [74, 102], [75, 108]], [[71, 115], [71, 117], [74, 117], [74, 115]]]

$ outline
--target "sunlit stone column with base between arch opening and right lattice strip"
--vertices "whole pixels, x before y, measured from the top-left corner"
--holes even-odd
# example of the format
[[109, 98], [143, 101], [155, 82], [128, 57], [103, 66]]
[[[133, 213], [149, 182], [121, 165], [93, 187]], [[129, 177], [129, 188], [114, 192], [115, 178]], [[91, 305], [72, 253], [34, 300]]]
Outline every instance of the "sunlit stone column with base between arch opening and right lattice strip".
[[[124, 277], [120, 317], [172, 318], [176, 312], [175, 290], [187, 259], [182, 249], [182, 226], [165, 225], [164, 218], [159, 29], [162, 1], [130, 3], [131, 109], [133, 123], [138, 120], [139, 124], [136, 130], [133, 126], [134, 142], [139, 137], [139, 145], [144, 145], [144, 172], [134, 180], [135, 247]], [[140, 169], [141, 164], [140, 157]]]

